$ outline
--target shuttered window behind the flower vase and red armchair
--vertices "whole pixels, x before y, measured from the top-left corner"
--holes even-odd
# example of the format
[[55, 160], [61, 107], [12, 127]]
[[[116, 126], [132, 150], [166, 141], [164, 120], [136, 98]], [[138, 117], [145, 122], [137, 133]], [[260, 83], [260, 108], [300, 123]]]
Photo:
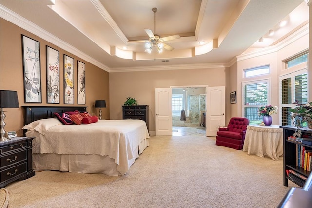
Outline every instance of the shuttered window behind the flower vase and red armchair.
[[243, 114], [250, 124], [260, 124], [262, 117], [258, 108], [268, 104], [269, 80], [260, 80], [243, 83]]

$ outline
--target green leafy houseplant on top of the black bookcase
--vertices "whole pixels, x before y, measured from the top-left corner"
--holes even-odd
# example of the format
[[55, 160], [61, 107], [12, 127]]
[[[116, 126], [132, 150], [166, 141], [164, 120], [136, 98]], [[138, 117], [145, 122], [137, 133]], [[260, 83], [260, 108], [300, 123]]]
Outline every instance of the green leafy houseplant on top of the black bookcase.
[[307, 122], [308, 128], [312, 129], [312, 102], [301, 104], [296, 100], [293, 104], [296, 104], [296, 107], [289, 110], [291, 118], [294, 120], [293, 124], [299, 128], [303, 127], [304, 122]]

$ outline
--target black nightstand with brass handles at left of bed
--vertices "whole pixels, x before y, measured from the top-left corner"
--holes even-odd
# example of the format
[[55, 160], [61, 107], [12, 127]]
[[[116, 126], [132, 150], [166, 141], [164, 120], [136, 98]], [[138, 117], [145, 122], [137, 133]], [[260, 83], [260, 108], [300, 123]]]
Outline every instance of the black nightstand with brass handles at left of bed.
[[14, 137], [0, 142], [0, 186], [35, 175], [32, 164], [32, 140], [35, 137]]

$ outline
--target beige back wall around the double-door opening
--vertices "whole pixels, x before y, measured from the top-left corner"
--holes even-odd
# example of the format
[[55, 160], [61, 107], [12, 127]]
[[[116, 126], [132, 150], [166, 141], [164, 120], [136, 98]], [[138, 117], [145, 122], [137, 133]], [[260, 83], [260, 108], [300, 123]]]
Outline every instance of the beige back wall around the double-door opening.
[[208, 68], [110, 73], [111, 119], [122, 119], [121, 106], [126, 97], [133, 97], [139, 104], [149, 105], [149, 130], [155, 131], [155, 88], [225, 86], [227, 70]]

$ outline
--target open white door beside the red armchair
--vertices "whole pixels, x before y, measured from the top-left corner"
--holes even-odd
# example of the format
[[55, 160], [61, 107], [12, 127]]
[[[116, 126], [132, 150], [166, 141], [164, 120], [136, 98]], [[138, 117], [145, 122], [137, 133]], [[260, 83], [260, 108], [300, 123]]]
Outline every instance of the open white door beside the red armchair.
[[206, 136], [216, 137], [219, 125], [225, 125], [225, 87], [207, 87]]

